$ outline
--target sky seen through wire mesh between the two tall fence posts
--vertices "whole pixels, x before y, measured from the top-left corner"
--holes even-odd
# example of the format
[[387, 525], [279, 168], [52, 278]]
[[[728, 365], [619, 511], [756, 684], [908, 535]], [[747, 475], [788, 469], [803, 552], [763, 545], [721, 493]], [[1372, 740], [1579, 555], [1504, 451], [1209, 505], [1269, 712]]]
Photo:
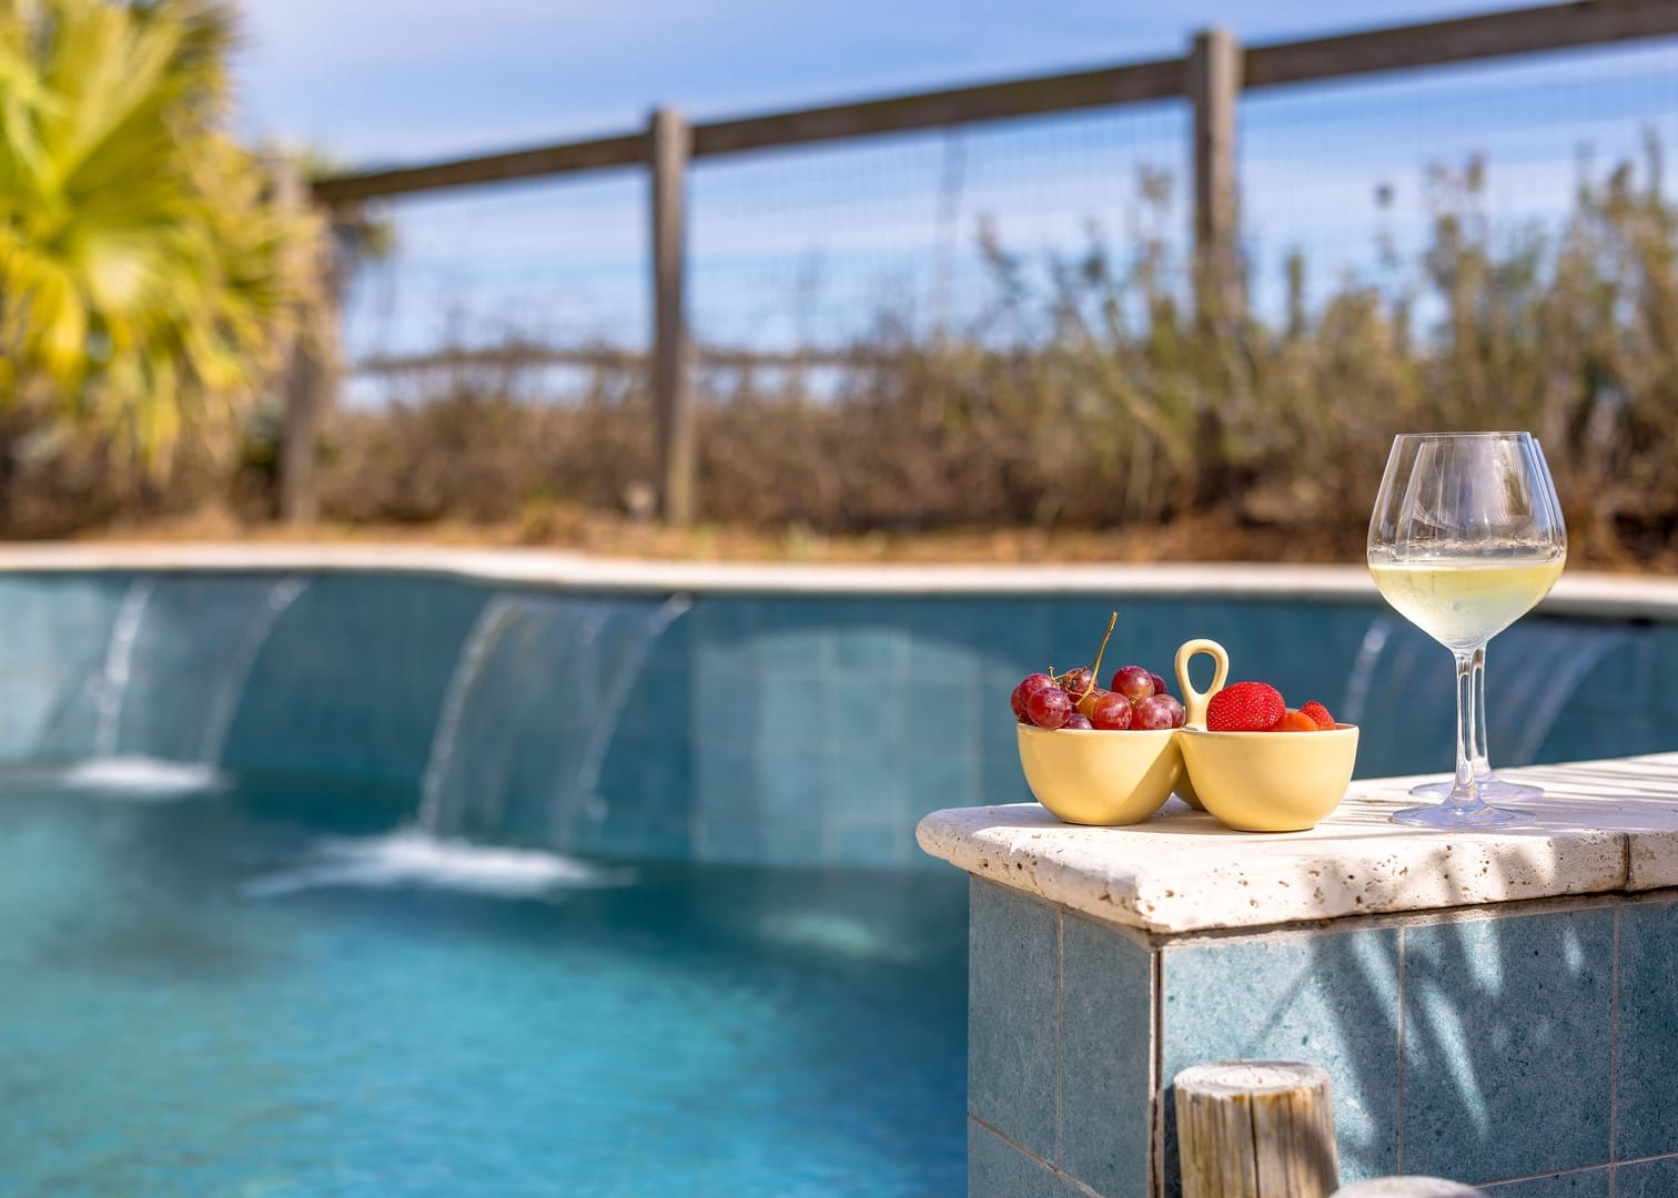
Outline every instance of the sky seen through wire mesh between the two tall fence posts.
[[[695, 336], [832, 352], [988, 331], [1002, 290], [1042, 290], [1092, 240], [1186, 235], [1186, 121], [1151, 104], [700, 161]], [[1144, 213], [1149, 180], [1168, 185]]]

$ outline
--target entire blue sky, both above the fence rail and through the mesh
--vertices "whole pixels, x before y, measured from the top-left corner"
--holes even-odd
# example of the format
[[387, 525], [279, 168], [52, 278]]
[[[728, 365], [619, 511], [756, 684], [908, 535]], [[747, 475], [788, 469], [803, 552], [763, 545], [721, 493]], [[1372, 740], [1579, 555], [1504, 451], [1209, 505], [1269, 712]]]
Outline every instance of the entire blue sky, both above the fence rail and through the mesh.
[[[247, 0], [248, 133], [369, 166], [636, 129], [654, 104], [695, 119], [1055, 72], [1183, 52], [1227, 25], [1284, 40], [1480, 12], [1460, 0]], [[1312, 290], [1368, 273], [1378, 232], [1413, 250], [1425, 168], [1492, 163], [1488, 210], [1554, 221], [1591, 146], [1678, 149], [1678, 45], [1280, 89], [1242, 109], [1242, 201], [1260, 294], [1307, 250]], [[985, 287], [982, 221], [1040, 265], [1094, 221], [1129, 243], [1136, 176], [1176, 181], [1181, 104], [1086, 112], [717, 159], [691, 180], [691, 320], [705, 341], [842, 342], [883, 302], [960, 320]], [[1396, 200], [1379, 213], [1376, 186]], [[351, 351], [406, 352], [522, 334], [636, 344], [646, 329], [644, 180], [636, 173], [414, 198], [389, 208], [398, 253], [351, 299]]]

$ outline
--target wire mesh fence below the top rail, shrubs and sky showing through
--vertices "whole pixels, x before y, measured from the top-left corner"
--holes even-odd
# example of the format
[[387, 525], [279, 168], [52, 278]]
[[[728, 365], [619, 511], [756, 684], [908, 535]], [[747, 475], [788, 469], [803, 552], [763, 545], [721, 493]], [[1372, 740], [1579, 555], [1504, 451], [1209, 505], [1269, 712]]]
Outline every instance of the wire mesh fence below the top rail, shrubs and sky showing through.
[[[1436, 54], [1431, 29], [1368, 37], [1386, 34], [1404, 65]], [[1388, 76], [1352, 54], [1349, 79], [1280, 82], [1341, 70], [1331, 42], [1250, 55], [1272, 76], [1238, 97], [1235, 312], [1195, 285], [1213, 97], [1161, 64], [1114, 69], [1141, 72], [1146, 101], [693, 159], [703, 510], [839, 530], [1195, 513], [1275, 530], [1275, 554], [1342, 555], [1393, 431], [1525, 426], [1589, 503], [1569, 515], [1582, 555], [1665, 545], [1678, 42]], [[763, 144], [814, 117], [735, 124]], [[357, 394], [443, 414], [346, 440], [359, 507], [341, 505], [651, 510], [670, 456], [654, 413], [678, 396], [648, 378], [648, 196], [644, 169], [614, 168], [389, 208], [398, 252], [364, 272], [349, 322]], [[574, 398], [634, 411], [532, 403]]]

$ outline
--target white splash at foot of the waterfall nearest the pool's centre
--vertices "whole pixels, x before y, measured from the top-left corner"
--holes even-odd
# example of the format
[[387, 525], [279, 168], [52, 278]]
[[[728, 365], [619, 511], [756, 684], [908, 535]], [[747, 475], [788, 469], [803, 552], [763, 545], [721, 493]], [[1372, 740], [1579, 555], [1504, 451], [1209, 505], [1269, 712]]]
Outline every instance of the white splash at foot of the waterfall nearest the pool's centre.
[[362, 886], [443, 889], [492, 898], [540, 898], [562, 891], [629, 886], [633, 869], [597, 866], [539, 849], [503, 849], [406, 829], [366, 839], [320, 841], [297, 869], [257, 878], [247, 898]]

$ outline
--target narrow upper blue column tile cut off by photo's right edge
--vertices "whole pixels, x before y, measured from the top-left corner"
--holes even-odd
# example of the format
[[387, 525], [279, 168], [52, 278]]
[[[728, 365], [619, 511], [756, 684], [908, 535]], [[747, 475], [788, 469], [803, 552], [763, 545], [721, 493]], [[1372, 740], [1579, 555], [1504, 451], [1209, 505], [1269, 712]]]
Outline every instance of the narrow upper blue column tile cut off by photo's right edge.
[[1621, 908], [1616, 1052], [1614, 1154], [1678, 1153], [1678, 903]]

